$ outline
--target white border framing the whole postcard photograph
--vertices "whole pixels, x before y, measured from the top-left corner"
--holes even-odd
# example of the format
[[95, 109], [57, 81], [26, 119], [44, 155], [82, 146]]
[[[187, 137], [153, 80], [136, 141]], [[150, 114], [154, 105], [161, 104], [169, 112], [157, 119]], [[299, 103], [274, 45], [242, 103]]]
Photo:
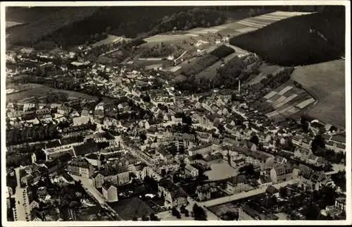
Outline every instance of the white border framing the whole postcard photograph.
[[[346, 7], [346, 125], [351, 126], [351, 6], [349, 1], [26, 1], [1, 2], [1, 135], [6, 132], [6, 70], [5, 70], [5, 7], [6, 6], [279, 6], [279, 5], [342, 5]], [[333, 32], [333, 31], [332, 31]], [[4, 226], [208, 226], [208, 225], [346, 225], [351, 224], [351, 128], [346, 128], [346, 221], [45, 221], [45, 222], [8, 222], [6, 220], [6, 137], [1, 137], [1, 215]]]

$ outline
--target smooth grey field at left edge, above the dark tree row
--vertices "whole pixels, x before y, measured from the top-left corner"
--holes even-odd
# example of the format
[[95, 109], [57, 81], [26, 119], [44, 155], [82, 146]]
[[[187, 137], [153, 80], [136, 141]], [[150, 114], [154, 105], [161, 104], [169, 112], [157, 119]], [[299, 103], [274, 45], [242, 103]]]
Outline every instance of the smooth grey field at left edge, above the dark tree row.
[[[11, 86], [14, 87], [14, 86]], [[35, 99], [39, 99], [39, 102], [45, 100], [45, 97], [49, 94], [49, 92], [62, 92], [68, 94], [68, 99], [98, 99], [96, 97], [92, 97], [88, 94], [83, 94], [80, 92], [72, 92], [68, 90], [59, 90], [55, 88], [46, 87], [44, 85], [35, 85], [35, 88], [30, 88], [23, 92], [17, 92], [13, 94], [6, 95], [6, 102], [32, 102]]]

